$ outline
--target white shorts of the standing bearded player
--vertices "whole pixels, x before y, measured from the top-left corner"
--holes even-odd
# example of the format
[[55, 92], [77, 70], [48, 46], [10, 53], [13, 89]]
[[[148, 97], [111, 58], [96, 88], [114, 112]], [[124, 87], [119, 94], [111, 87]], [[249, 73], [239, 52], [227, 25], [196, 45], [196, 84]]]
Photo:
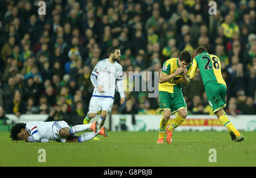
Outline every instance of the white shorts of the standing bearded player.
[[107, 112], [111, 112], [112, 106], [114, 103], [113, 98], [100, 98], [93, 96], [90, 99], [89, 103], [89, 112], [90, 113], [97, 113], [98, 111], [105, 110]]

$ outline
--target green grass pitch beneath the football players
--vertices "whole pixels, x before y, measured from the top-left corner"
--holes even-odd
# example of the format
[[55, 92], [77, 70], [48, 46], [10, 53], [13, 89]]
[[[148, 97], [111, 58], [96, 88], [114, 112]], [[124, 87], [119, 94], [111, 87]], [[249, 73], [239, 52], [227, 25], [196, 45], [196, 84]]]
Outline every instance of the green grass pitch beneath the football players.
[[[158, 145], [158, 132], [109, 132], [83, 143], [12, 142], [0, 132], [0, 166], [256, 166], [256, 132], [241, 133], [245, 140], [234, 142], [228, 132], [174, 132], [171, 144]], [[39, 149], [46, 162], [38, 162]], [[216, 162], [209, 162], [210, 149]]]

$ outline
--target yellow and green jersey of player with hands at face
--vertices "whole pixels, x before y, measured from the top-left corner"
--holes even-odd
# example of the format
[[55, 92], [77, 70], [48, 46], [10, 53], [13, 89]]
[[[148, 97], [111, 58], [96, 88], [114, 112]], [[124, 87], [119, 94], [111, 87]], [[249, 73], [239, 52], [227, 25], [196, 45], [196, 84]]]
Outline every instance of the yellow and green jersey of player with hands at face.
[[[178, 58], [170, 58], [163, 64], [162, 72], [164, 74], [170, 75], [175, 73], [176, 69], [179, 68]], [[192, 63], [189, 63], [187, 66], [188, 73], [186, 74], [189, 78], [191, 69], [192, 69]], [[182, 89], [182, 73], [177, 75], [175, 78], [171, 79], [168, 82], [160, 83], [158, 85], [159, 91], [167, 91], [173, 94], [174, 92], [180, 92]]]

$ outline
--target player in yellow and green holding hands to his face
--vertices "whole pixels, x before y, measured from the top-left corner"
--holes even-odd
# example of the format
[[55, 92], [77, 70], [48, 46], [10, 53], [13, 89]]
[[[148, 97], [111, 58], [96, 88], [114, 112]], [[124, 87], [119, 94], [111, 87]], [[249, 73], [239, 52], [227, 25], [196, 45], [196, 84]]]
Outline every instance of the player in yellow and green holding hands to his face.
[[[166, 140], [172, 142], [172, 131], [177, 128], [187, 117], [187, 104], [182, 94], [182, 84], [188, 85], [189, 74], [192, 69], [191, 53], [183, 50], [179, 58], [171, 58], [163, 64], [159, 76], [159, 111], [163, 111], [163, 117], [159, 125], [158, 141], [163, 143], [164, 132]], [[171, 114], [178, 112], [177, 117], [170, 122]], [[170, 121], [169, 121], [170, 120]], [[167, 127], [167, 125], [170, 125]]]

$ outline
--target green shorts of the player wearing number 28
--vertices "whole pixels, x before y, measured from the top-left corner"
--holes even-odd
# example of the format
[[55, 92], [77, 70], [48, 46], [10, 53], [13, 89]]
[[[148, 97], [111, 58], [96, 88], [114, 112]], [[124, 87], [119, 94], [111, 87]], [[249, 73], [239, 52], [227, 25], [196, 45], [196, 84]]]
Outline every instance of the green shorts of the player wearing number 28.
[[225, 84], [209, 81], [205, 84], [205, 93], [213, 112], [226, 107], [226, 86]]

